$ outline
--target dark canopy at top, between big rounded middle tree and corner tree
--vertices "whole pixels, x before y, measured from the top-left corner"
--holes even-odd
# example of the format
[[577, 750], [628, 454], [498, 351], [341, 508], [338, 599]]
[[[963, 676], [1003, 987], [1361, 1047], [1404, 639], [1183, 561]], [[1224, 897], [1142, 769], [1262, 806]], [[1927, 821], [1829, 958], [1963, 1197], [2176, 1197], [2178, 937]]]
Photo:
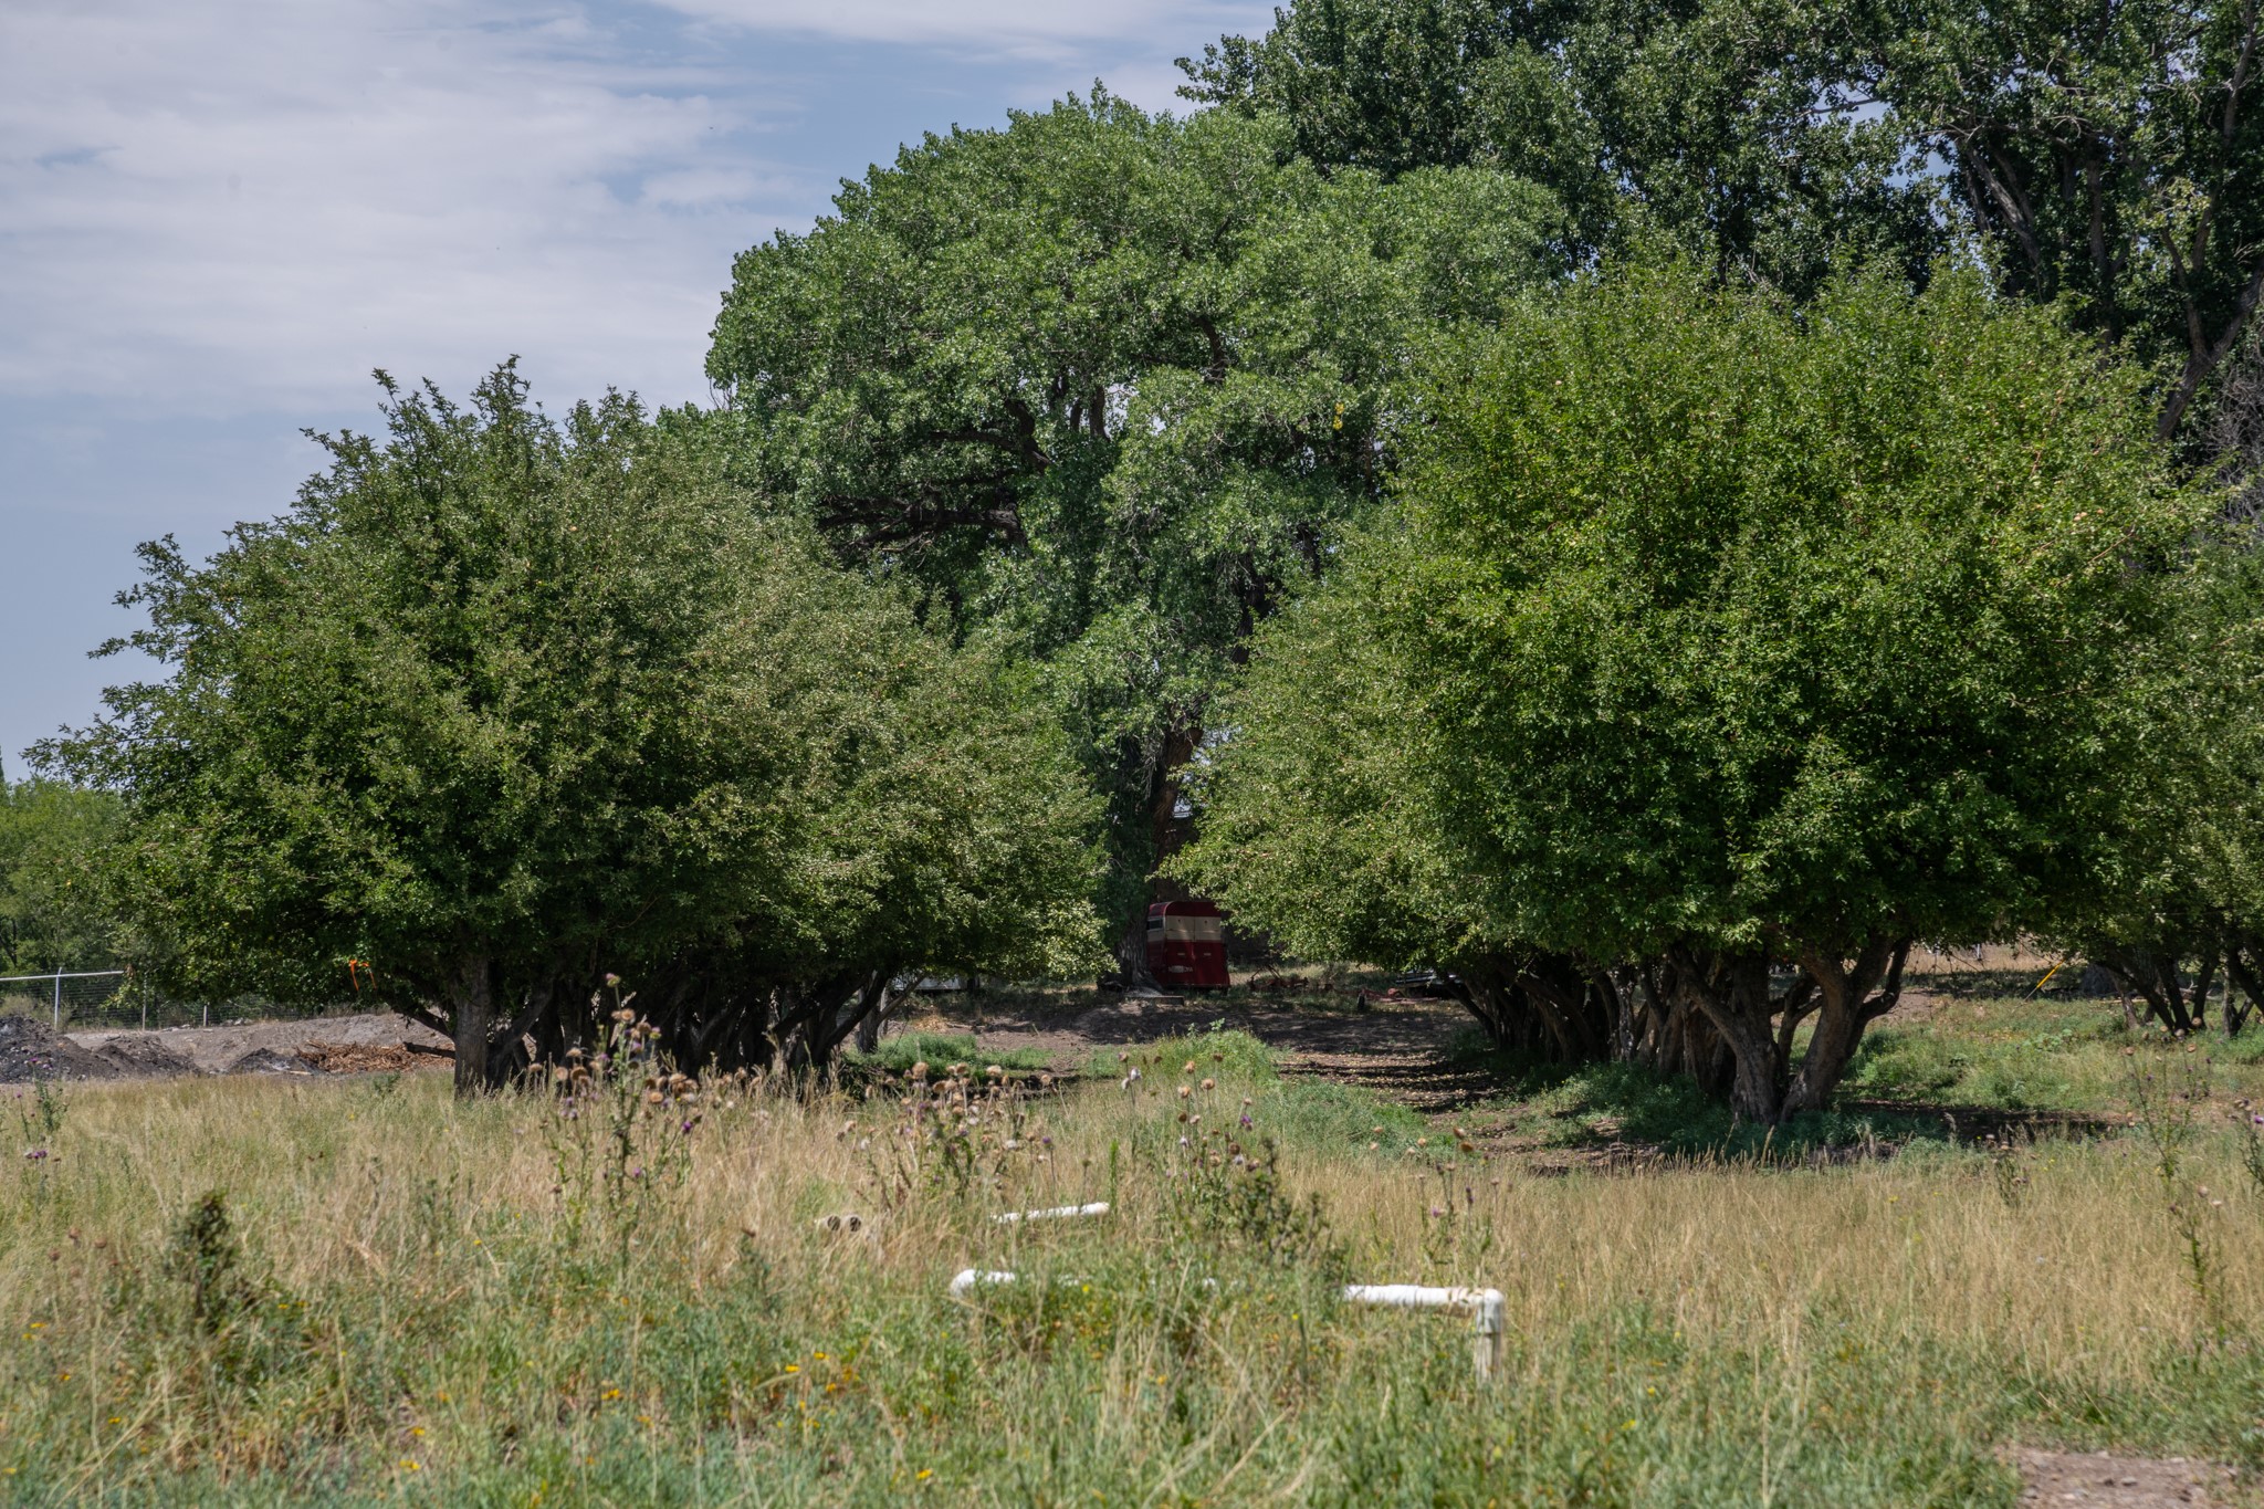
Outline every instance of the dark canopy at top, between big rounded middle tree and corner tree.
[[1664, 240], [1795, 292], [1852, 256], [1922, 281], [1933, 186], [1845, 88], [1866, 20], [1780, 0], [1302, 0], [1263, 38], [1182, 59], [1182, 93], [1281, 115], [1327, 167], [1528, 176], [1589, 253]]

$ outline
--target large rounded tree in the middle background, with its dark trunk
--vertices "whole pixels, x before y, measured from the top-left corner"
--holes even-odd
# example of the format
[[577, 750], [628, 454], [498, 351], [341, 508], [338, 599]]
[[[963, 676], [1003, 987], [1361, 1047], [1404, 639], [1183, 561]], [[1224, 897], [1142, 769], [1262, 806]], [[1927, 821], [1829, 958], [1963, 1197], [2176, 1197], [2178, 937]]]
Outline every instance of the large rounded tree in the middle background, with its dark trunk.
[[1553, 267], [1519, 179], [1284, 154], [1098, 93], [931, 136], [747, 251], [709, 355], [763, 495], [1046, 667], [1118, 921], [1252, 622], [1377, 502], [1424, 333]]

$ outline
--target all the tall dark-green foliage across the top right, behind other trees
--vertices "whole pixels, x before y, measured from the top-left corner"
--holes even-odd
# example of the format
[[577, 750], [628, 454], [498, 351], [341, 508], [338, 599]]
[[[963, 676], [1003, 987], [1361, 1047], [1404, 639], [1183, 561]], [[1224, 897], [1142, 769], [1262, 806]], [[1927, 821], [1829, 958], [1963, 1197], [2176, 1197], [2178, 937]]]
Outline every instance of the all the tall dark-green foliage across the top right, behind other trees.
[[1315, 163], [1497, 163], [1598, 249], [1666, 235], [1802, 296], [1979, 238], [2006, 292], [2160, 367], [2169, 437], [2264, 294], [2259, 41], [2244, 0], [1297, 0], [1184, 68]]

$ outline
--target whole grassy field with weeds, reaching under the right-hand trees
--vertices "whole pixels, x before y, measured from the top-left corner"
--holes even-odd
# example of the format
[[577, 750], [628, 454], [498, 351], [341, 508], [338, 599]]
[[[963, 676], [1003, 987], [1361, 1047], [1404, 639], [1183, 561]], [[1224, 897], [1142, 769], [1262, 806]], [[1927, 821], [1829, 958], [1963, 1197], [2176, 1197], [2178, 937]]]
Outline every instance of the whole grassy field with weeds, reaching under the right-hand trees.
[[[951, 1041], [872, 1097], [25, 1090], [0, 1498], [2013, 1504], [2010, 1443], [2264, 1466], [2244, 1054], [1979, 1011], [1884, 1032], [1859, 1093], [2130, 1124], [1832, 1167], [1700, 1129], [1535, 1176], [1241, 1034], [1026, 1095], [951, 1081]], [[1707, 1115], [1535, 1097], [1487, 1115]], [[1114, 1215], [987, 1219], [1080, 1199]], [[1023, 1278], [953, 1301], [962, 1267]], [[1501, 1287], [1503, 1373], [1347, 1278]]]

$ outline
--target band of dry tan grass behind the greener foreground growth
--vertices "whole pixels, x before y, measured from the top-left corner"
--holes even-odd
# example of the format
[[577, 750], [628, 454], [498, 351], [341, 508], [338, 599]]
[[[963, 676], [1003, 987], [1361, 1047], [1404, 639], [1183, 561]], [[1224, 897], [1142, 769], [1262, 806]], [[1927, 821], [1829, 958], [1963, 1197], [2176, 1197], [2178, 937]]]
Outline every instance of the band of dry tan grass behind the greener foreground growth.
[[[1198, 1090], [1189, 1104], [1229, 1120], [1241, 1090]], [[1048, 1104], [1039, 1115], [1055, 1136], [1050, 1158], [1026, 1163], [998, 1199], [1105, 1195], [1109, 1145], [1155, 1136], [1173, 1104], [1114, 1086]], [[215, 1188], [285, 1285], [398, 1262], [392, 1233], [412, 1208], [444, 1213], [466, 1244], [507, 1217], [541, 1228], [559, 1219], [546, 1113], [539, 1097], [457, 1106], [432, 1079], [383, 1097], [367, 1084], [256, 1077], [77, 1088], [54, 1158], [18, 1172], [23, 1188], [0, 1215], [0, 1310], [9, 1321], [36, 1317], [50, 1251], [72, 1231], [82, 1242], [147, 1244]], [[840, 1097], [711, 1104], [679, 1206], [695, 1271], [724, 1269], [743, 1231], [808, 1276], [856, 1267], [935, 1285], [962, 1265], [1010, 1267], [1039, 1240], [949, 1204], [890, 1210], [860, 1145], [885, 1142], [892, 1118], [885, 1104]], [[2137, 1140], [2038, 1145], [2010, 1204], [1981, 1161], [1954, 1156], [1569, 1179], [1463, 1158], [1444, 1181], [1460, 1206], [1451, 1242], [1429, 1215], [1442, 1201], [1440, 1174], [1406, 1163], [1288, 1158], [1293, 1185], [1322, 1197], [1363, 1276], [1497, 1285], [1535, 1337], [1626, 1303], [1648, 1303], [1684, 1330], [1757, 1342], [1804, 1317], [1843, 1314], [2112, 1373], [2203, 1323], [2180, 1231]], [[2264, 1251], [2237, 1238], [2255, 1231], [2264, 1201], [2228, 1145], [2198, 1142], [2189, 1183], [2210, 1190], [2189, 1199], [2203, 1210], [2214, 1303], [2259, 1312]], [[1134, 1172], [1118, 1195], [1121, 1240], [1139, 1242], [1155, 1213]], [[838, 1210], [858, 1210], [865, 1231], [813, 1228]]]

